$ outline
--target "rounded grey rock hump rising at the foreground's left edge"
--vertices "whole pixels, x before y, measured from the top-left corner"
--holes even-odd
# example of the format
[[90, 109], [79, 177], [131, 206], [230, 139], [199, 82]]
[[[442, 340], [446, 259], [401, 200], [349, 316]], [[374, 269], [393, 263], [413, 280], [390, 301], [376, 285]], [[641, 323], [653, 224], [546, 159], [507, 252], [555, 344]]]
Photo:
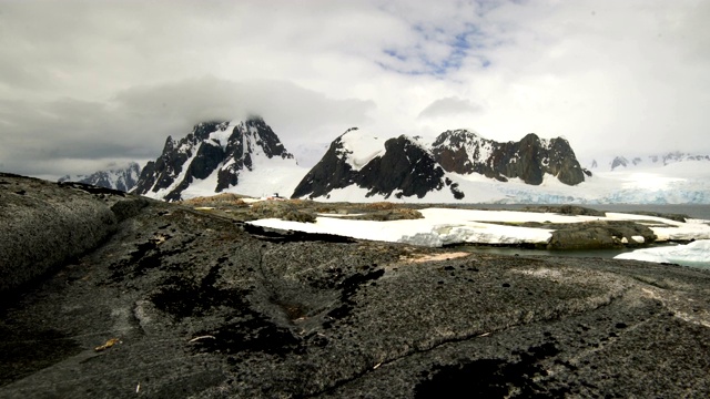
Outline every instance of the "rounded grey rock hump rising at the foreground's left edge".
[[130, 215], [124, 193], [0, 173], [0, 293], [95, 247]]

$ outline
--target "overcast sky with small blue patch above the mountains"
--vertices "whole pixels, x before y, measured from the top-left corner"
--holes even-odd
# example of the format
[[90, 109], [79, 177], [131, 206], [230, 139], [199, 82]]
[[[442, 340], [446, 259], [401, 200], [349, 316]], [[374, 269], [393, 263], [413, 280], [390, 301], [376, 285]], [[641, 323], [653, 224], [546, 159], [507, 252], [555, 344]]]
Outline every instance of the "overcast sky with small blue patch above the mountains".
[[0, 171], [144, 163], [264, 117], [311, 166], [352, 126], [710, 154], [707, 0], [0, 0]]

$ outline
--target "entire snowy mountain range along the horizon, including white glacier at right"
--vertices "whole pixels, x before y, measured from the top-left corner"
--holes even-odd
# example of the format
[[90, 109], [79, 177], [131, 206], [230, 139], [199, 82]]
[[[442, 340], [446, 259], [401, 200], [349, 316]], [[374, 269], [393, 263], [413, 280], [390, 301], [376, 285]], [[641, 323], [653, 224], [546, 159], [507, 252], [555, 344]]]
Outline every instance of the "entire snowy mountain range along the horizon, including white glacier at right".
[[[351, 202], [710, 203], [710, 176], [702, 172], [707, 167], [698, 167], [707, 161], [710, 156], [667, 153], [617, 156], [585, 168], [561, 137], [530, 133], [517, 142], [496, 142], [450, 130], [425, 143], [352, 127], [306, 170], [263, 119], [250, 117], [199, 123], [185, 137], [169, 136], [162, 154], [140, 175], [132, 164], [78, 177], [165, 201], [234, 192]], [[652, 173], [638, 173], [649, 167]], [[690, 178], [665, 177], [666, 172]]]

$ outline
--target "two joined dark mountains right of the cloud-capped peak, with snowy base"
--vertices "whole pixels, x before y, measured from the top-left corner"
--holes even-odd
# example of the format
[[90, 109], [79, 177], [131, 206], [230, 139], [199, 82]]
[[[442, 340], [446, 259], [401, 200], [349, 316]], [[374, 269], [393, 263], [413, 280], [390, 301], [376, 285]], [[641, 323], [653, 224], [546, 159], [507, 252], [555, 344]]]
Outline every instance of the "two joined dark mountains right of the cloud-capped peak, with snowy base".
[[510, 180], [540, 185], [549, 176], [574, 185], [585, 181], [585, 173], [591, 175], [564, 139], [528, 134], [519, 142], [498, 143], [457, 130], [442, 133], [429, 147], [406, 135], [385, 141], [353, 127], [331, 144], [293, 197], [328, 198], [334, 192], [339, 197], [343, 191], [359, 190], [365, 197], [450, 202], [466, 197], [463, 186], [476, 176], [489, 185]]

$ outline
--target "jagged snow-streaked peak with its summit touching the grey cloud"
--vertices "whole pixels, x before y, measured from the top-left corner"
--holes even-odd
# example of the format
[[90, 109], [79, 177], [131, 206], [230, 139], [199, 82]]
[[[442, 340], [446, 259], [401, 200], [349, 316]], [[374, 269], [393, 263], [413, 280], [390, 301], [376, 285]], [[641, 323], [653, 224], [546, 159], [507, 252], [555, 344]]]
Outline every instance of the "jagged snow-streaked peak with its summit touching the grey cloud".
[[168, 137], [162, 155], [143, 167], [135, 193], [165, 201], [230, 191], [263, 195], [293, 190], [294, 174], [303, 170], [261, 117], [205, 122], [180, 141]]

